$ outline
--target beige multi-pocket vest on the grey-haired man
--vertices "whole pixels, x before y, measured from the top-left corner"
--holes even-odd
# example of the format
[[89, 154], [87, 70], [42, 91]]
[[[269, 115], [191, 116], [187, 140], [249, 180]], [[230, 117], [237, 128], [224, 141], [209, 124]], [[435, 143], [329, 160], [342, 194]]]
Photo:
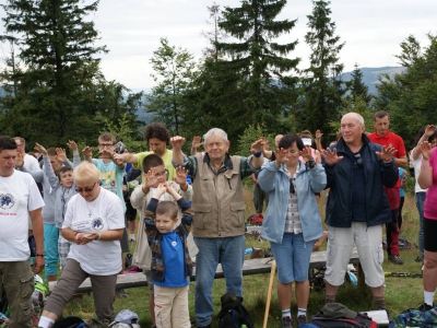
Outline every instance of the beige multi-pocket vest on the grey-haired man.
[[214, 174], [201, 155], [192, 185], [194, 237], [218, 238], [245, 233], [245, 209], [240, 177], [240, 156], [231, 156], [233, 169]]

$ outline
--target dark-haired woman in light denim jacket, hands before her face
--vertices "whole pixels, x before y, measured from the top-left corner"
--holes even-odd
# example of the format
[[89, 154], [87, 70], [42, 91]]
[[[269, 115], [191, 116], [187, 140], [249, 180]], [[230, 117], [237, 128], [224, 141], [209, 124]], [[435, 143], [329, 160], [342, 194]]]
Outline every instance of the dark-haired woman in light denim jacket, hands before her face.
[[[304, 164], [299, 156], [306, 161]], [[311, 150], [300, 137], [284, 136], [275, 151], [275, 161], [258, 176], [261, 188], [269, 192], [269, 206], [261, 237], [270, 241], [277, 263], [277, 297], [282, 327], [292, 326], [292, 282], [295, 282], [298, 327], [307, 323], [309, 297], [308, 268], [312, 245], [323, 235], [315, 194], [323, 190], [327, 176]]]

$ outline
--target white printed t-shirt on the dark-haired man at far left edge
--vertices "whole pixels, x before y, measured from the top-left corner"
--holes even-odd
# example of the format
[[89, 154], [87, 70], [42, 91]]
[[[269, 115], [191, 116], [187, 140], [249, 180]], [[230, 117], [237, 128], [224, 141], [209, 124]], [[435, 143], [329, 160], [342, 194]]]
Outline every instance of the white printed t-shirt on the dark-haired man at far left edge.
[[25, 261], [28, 248], [28, 212], [44, 207], [34, 178], [14, 171], [0, 177], [0, 261]]

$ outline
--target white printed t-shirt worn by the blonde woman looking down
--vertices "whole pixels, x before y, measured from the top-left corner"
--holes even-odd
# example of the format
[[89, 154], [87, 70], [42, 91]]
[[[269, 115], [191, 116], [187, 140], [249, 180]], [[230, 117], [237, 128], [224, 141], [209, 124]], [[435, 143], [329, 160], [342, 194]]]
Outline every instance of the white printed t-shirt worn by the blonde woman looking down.
[[[98, 197], [90, 202], [81, 195], [74, 195], [67, 206], [62, 229], [66, 227], [83, 233], [125, 229], [121, 200], [104, 188], [101, 188]], [[73, 243], [67, 258], [76, 260], [90, 274], [115, 274], [121, 270], [120, 242], [94, 241], [86, 245]]]

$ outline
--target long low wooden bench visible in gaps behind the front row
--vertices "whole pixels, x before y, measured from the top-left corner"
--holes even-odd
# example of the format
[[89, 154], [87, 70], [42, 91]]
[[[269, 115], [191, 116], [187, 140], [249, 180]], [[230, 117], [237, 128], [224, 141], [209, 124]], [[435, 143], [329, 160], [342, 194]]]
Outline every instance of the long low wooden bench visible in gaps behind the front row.
[[[350, 263], [359, 265], [359, 258], [356, 249], [351, 256]], [[311, 260], [309, 262], [309, 268], [323, 268], [327, 265], [327, 251], [315, 251], [311, 254]], [[270, 273], [272, 268], [271, 258], [256, 258], [245, 260], [243, 265], [243, 276], [258, 274], [258, 273]], [[217, 266], [214, 279], [224, 278], [222, 265]], [[193, 276], [191, 280], [196, 280], [196, 267], [193, 270]], [[49, 282], [50, 291], [54, 290], [56, 281]], [[130, 289], [138, 286], [146, 286], [147, 280], [145, 276], [141, 272], [138, 273], [127, 273], [117, 276], [117, 289]], [[91, 281], [88, 278], [79, 286], [78, 293], [91, 292]]]

